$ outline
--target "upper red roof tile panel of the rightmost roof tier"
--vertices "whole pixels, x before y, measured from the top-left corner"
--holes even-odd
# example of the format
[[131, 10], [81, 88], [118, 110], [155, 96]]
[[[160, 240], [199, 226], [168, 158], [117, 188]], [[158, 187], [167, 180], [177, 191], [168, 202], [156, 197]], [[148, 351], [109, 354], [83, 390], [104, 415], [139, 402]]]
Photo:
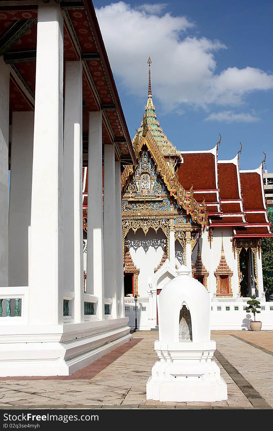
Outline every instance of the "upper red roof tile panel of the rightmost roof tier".
[[244, 208], [265, 209], [260, 175], [258, 172], [240, 172]]

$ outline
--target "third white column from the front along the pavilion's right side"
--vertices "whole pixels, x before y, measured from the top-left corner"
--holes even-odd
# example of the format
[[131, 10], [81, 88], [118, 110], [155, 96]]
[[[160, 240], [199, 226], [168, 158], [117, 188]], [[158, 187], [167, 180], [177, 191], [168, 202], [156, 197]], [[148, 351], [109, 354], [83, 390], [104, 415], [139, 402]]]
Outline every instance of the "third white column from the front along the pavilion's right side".
[[102, 206], [102, 111], [89, 112], [86, 293], [96, 295], [104, 319], [104, 226]]

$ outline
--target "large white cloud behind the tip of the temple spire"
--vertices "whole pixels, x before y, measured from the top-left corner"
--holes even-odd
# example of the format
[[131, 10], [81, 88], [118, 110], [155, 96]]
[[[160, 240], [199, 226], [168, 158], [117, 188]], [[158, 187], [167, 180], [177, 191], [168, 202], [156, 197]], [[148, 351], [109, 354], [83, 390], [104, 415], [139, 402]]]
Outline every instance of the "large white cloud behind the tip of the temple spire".
[[119, 1], [96, 10], [113, 72], [129, 93], [147, 94], [149, 55], [154, 102], [166, 112], [185, 105], [238, 106], [251, 91], [273, 88], [273, 75], [260, 69], [232, 67], [217, 75], [215, 54], [226, 46], [186, 34], [195, 24], [185, 16], [157, 16], [158, 5], [165, 4], [136, 9]]

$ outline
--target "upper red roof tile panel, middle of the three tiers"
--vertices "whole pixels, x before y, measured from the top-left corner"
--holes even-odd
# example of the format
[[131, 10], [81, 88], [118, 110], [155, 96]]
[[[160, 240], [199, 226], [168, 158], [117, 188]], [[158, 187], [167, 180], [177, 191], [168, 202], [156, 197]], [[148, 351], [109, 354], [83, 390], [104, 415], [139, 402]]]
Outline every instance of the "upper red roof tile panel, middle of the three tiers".
[[220, 199], [240, 199], [237, 169], [234, 163], [218, 163]]

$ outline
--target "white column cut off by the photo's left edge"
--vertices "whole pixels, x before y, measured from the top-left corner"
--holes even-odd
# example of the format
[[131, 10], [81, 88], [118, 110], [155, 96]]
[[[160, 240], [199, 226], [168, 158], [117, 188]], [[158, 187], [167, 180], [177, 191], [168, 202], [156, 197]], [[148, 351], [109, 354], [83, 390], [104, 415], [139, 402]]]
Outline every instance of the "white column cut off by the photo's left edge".
[[9, 66], [0, 57], [0, 286], [8, 285]]

